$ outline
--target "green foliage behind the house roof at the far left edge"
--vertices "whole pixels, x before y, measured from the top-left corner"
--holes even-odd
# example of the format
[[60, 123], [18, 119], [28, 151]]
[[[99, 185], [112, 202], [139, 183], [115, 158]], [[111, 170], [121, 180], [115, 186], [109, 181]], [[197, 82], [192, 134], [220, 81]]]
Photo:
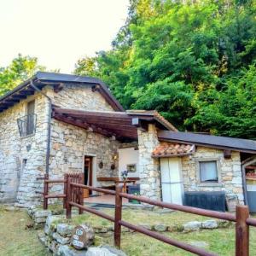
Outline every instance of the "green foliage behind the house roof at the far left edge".
[[18, 55], [9, 67], [0, 67], [0, 96], [32, 77], [35, 72], [44, 69], [38, 65], [37, 58]]

